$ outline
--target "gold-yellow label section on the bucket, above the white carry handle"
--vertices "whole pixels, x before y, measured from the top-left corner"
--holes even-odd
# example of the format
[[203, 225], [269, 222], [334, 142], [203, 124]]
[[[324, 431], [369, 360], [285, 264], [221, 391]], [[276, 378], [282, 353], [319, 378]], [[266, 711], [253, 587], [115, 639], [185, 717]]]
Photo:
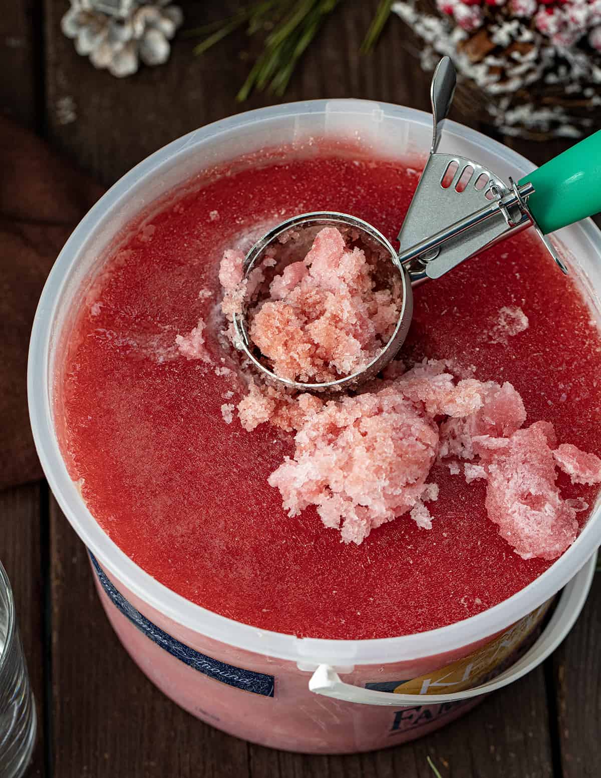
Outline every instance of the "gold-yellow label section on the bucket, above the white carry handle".
[[510, 657], [521, 643], [533, 633], [550, 608], [551, 598], [536, 611], [529, 613], [504, 633], [479, 649], [446, 667], [411, 681], [404, 681], [394, 689], [395, 694], [446, 694], [463, 692], [481, 682], [501, 662]]

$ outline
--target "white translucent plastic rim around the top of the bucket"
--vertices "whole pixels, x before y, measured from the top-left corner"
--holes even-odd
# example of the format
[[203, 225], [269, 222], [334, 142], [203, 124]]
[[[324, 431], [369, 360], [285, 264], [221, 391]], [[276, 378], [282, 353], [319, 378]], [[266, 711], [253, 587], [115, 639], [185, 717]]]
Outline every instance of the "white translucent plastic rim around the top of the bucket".
[[[120, 203], [127, 202], [134, 187], [145, 178], [155, 177], [159, 170], [184, 150], [190, 153], [198, 149], [198, 154], [201, 155], [203, 144], [208, 141], [217, 142], [219, 138], [225, 140], [232, 133], [237, 133], [241, 129], [249, 131], [253, 125], [258, 128], [260, 124], [270, 120], [288, 118], [298, 124], [302, 117], [309, 117], [311, 114], [327, 116], [334, 114], [337, 122], [348, 117], [348, 119], [344, 118], [347, 124], [352, 121], [353, 116], [365, 117], [365, 114], [383, 116], [399, 120], [400, 128], [402, 122], [407, 122], [424, 128], [425, 135], [428, 137], [432, 132], [432, 117], [423, 111], [369, 100], [309, 100], [260, 108], [217, 121], [178, 138], [144, 159], [118, 180], [82, 219], [59, 254], [44, 286], [33, 322], [27, 376], [33, 439], [54, 496], [82, 541], [117, 581], [169, 619], [230, 646], [269, 657], [296, 661], [303, 665], [313, 664], [313, 668], [319, 664], [348, 667], [354, 664], [411, 661], [441, 651], [457, 650], [486, 636], [494, 636], [538, 608], [564, 587], [578, 573], [578, 570], [582, 569], [601, 544], [599, 501], [575, 543], [554, 562], [553, 566], [511, 598], [470, 619], [428, 632], [391, 638], [373, 640], [299, 638], [295, 635], [257, 629], [208, 611], [200, 605], [187, 601], [160, 584], [149, 573], [145, 573], [121, 551], [114, 541], [110, 540], [96, 523], [77, 486], [68, 475], [54, 433], [51, 405], [51, 360], [56, 338], [54, 322], [62, 291], [68, 279], [68, 271], [77, 262], [87, 237], [97, 224], [108, 211], [114, 211], [118, 209]], [[520, 176], [536, 167], [512, 149], [456, 122], [446, 122], [445, 138], [450, 142], [455, 138], [458, 142], [469, 142], [479, 146], [487, 154], [511, 166]], [[592, 220], [587, 219], [578, 227], [572, 226], [566, 230], [579, 230], [580, 240], [586, 244], [592, 254], [599, 256], [599, 263], [601, 263], [601, 233]], [[561, 233], [558, 234], [561, 237]]]

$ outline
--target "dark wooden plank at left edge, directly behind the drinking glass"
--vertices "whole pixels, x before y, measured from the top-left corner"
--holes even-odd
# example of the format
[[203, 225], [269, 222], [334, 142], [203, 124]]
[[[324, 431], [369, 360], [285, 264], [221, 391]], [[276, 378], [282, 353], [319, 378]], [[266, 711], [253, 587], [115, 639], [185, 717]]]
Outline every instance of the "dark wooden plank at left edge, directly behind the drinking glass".
[[43, 586], [40, 496], [45, 484], [0, 492], [0, 559], [15, 595], [27, 667], [36, 698], [38, 735], [28, 776], [44, 776]]

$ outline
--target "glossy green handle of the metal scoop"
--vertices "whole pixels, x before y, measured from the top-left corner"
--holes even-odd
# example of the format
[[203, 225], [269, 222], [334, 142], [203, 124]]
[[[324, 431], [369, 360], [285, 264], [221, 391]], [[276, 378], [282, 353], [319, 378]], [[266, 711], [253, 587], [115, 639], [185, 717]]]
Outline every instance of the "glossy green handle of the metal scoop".
[[544, 235], [601, 211], [601, 130], [520, 178], [533, 184], [529, 209]]

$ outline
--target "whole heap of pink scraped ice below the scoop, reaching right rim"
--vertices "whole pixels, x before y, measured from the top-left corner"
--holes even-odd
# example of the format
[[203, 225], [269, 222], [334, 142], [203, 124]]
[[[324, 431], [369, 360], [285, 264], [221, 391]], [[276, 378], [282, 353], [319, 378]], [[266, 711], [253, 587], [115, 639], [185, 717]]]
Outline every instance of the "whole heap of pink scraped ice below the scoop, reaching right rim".
[[[469, 460], [466, 483], [487, 480], [488, 516], [515, 552], [555, 559], [575, 540], [578, 522], [555, 483], [554, 457], [565, 447], [554, 450], [553, 426], [520, 429], [526, 413], [512, 384], [456, 383], [444, 370], [431, 361], [392, 382], [374, 382], [383, 385], [379, 391], [328, 401], [301, 423], [294, 457], [270, 485], [291, 516], [316, 505], [325, 526], [360, 543], [407, 511], [420, 527], [431, 527], [424, 503], [438, 490], [426, 481], [435, 460], [452, 452]], [[599, 457], [568, 449], [562, 461], [572, 478], [601, 482]]]

